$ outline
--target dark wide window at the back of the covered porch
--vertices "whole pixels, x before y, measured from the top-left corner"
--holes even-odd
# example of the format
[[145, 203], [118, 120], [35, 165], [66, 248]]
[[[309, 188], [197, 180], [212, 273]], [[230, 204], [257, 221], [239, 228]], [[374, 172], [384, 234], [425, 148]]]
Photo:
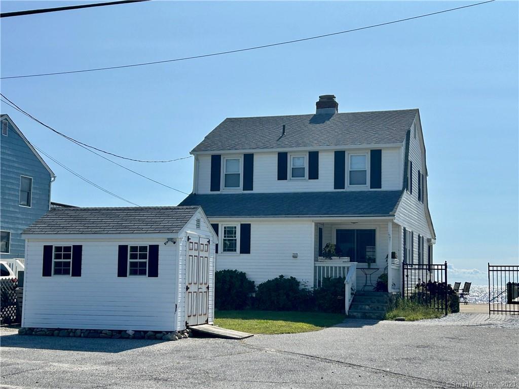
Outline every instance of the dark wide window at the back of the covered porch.
[[335, 231], [337, 254], [349, 257], [352, 262], [375, 262], [376, 260], [376, 230], [344, 229]]

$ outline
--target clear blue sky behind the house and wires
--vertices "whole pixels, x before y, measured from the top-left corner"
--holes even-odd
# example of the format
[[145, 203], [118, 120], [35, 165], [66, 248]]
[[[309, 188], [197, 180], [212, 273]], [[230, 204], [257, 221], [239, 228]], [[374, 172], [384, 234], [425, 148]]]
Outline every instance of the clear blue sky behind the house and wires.
[[[79, 4], [3, 1], [2, 12]], [[2, 76], [157, 61], [406, 18], [468, 2], [165, 2], [4, 18]], [[2, 93], [79, 140], [141, 159], [187, 156], [225, 117], [420, 109], [435, 262], [485, 281], [486, 262], [518, 261], [518, 3], [441, 15], [219, 57], [2, 80]], [[184, 195], [65, 141], [2, 104], [38, 147], [139, 205]], [[120, 161], [118, 161], [120, 162]], [[121, 162], [192, 189], [193, 160]], [[124, 206], [52, 161], [54, 201]], [[456, 270], [457, 269], [457, 270]], [[476, 269], [476, 270], [473, 270]], [[479, 271], [479, 272], [478, 272]]]

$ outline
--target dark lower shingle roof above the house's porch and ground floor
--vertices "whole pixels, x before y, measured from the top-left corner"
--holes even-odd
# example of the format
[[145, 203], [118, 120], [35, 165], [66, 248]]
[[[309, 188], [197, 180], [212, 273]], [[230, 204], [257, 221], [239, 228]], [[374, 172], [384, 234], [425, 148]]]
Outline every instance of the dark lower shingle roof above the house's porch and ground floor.
[[189, 195], [208, 217], [393, 216], [402, 190]]

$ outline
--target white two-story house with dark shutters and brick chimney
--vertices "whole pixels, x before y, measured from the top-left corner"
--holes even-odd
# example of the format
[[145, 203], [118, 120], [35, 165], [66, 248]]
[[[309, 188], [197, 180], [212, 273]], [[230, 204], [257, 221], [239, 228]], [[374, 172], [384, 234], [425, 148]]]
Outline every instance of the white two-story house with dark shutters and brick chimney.
[[[180, 205], [202, 206], [211, 221], [216, 270], [309, 287], [348, 273], [358, 288], [386, 272], [398, 291], [402, 260], [431, 262], [436, 239], [418, 109], [338, 113], [334, 95], [316, 106], [225, 119], [192, 150], [193, 192]], [[327, 243], [350, 262], [322, 258]]]

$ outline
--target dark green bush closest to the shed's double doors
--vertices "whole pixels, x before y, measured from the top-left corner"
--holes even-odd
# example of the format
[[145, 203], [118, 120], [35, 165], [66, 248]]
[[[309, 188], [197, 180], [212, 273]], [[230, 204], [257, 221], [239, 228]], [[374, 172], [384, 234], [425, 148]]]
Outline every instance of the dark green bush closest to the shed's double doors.
[[214, 306], [221, 310], [240, 310], [249, 305], [254, 281], [238, 270], [218, 270], [214, 274]]

